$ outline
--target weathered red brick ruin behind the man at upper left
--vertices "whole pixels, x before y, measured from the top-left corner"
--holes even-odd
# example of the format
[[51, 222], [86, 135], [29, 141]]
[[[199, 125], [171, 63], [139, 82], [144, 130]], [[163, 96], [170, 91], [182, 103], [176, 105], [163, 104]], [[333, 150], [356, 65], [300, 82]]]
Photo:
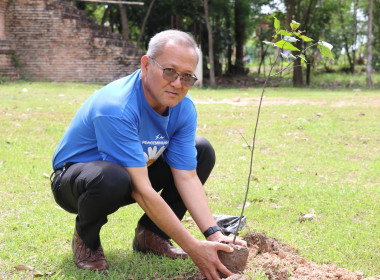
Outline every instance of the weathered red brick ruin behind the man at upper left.
[[0, 0], [0, 77], [110, 82], [135, 71], [141, 50], [68, 0]]

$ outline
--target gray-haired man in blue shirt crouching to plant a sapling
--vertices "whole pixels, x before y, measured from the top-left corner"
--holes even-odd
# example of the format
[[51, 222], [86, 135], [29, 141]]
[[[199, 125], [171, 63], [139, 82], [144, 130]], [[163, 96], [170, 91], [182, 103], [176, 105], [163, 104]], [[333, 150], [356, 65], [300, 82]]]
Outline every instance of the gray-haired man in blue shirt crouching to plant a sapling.
[[[198, 59], [186, 33], [158, 33], [140, 70], [96, 92], [74, 116], [53, 156], [52, 191], [63, 209], [77, 214], [72, 249], [79, 268], [108, 269], [100, 229], [107, 215], [137, 202], [145, 214], [135, 251], [190, 256], [208, 279], [219, 279], [217, 270], [232, 274], [217, 256], [232, 250], [223, 244], [232, 239], [216, 226], [203, 190], [214, 150], [195, 137], [197, 113], [187, 96]], [[207, 241], [181, 223], [187, 210]]]

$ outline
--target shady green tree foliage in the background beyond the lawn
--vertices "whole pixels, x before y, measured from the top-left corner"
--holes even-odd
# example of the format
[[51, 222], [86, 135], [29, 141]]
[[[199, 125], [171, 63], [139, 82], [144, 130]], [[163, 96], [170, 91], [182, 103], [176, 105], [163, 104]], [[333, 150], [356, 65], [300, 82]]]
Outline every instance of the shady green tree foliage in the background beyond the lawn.
[[[96, 17], [100, 24], [109, 25], [114, 32], [122, 33], [119, 5], [72, 1], [86, 10], [88, 15]], [[152, 1], [144, 0], [144, 6], [126, 6], [128, 40], [137, 41]], [[380, 0], [373, 0], [373, 4], [373, 66], [379, 70]], [[257, 75], [264, 72], [262, 67], [269, 63], [270, 51], [266, 51], [262, 41], [270, 40], [273, 30], [269, 14], [275, 15], [283, 26], [288, 26], [292, 19], [296, 20], [301, 23], [307, 36], [334, 45], [334, 61], [324, 60], [310, 51], [307, 55], [309, 67], [294, 69], [294, 75], [299, 79], [295, 85], [309, 85], [311, 77], [320, 72], [363, 71], [360, 65], [366, 63], [367, 0], [214, 0], [209, 1], [208, 5], [216, 76]], [[204, 73], [207, 77], [208, 42], [203, 1], [155, 1], [143, 30], [140, 47], [146, 48], [151, 36], [168, 28], [194, 34], [203, 51]], [[354, 69], [352, 64], [359, 67]]]

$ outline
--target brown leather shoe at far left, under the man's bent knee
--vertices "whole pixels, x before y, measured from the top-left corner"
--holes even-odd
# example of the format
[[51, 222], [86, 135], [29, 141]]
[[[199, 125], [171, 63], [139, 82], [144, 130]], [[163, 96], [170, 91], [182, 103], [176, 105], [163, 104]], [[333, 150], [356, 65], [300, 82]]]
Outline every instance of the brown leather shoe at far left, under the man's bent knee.
[[75, 230], [71, 247], [74, 252], [75, 264], [78, 268], [97, 270], [98, 272], [107, 271], [108, 263], [104, 256], [102, 246], [99, 246], [95, 251], [91, 250], [84, 244], [82, 238]]

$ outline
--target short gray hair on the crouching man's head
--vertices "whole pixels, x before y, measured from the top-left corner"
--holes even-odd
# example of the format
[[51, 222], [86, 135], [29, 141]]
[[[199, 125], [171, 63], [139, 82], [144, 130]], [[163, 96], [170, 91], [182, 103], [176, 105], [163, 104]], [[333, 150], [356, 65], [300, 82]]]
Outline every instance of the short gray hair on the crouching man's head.
[[189, 48], [193, 48], [195, 53], [197, 54], [197, 63], [198, 63], [198, 60], [199, 60], [199, 55], [197, 52], [198, 47], [194, 38], [191, 35], [187, 34], [186, 32], [174, 30], [174, 29], [161, 31], [157, 33], [156, 35], [154, 35], [149, 41], [148, 51], [146, 55], [150, 57], [158, 56], [161, 53], [163, 47], [166, 45], [166, 43], [170, 41], [189, 47]]

